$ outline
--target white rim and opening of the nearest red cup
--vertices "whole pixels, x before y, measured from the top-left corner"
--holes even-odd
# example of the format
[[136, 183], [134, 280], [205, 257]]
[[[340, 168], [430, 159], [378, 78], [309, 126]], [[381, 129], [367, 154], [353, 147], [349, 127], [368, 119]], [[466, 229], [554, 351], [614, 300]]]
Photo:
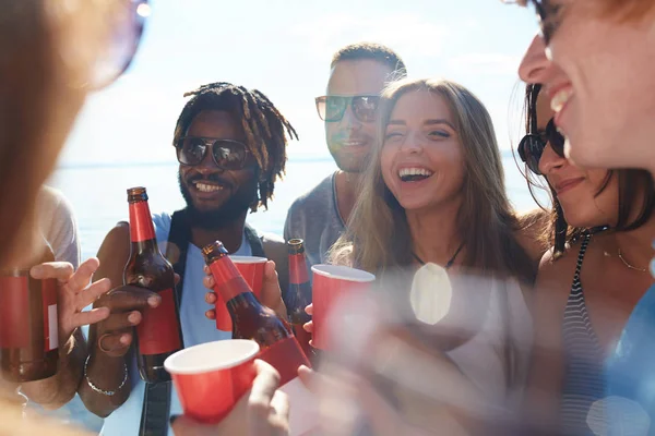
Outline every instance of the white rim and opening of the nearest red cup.
[[206, 342], [186, 348], [168, 356], [164, 361], [164, 367], [170, 374], [210, 373], [248, 362], [259, 353], [259, 350], [260, 347], [255, 341], [247, 339]]

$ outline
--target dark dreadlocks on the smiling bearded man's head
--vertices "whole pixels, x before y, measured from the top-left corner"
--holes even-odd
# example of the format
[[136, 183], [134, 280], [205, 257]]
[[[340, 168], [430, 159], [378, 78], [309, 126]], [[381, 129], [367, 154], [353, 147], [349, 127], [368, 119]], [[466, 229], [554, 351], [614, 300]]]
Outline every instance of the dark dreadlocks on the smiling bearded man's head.
[[176, 145], [187, 133], [200, 112], [229, 112], [237, 121], [240, 120], [246, 133], [246, 145], [258, 164], [259, 196], [253, 201], [250, 210], [254, 213], [260, 206], [267, 208], [269, 199], [273, 198], [275, 181], [282, 179], [285, 173], [287, 141], [298, 141], [296, 130], [269, 97], [258, 89], [216, 82], [184, 93], [184, 97], [189, 96], [192, 97], [177, 120], [172, 144]]

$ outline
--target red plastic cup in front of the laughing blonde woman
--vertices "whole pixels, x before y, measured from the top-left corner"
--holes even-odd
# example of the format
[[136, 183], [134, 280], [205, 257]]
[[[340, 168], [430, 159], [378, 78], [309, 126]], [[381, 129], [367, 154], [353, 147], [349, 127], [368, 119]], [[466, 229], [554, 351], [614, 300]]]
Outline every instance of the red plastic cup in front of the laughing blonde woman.
[[329, 348], [327, 319], [332, 307], [345, 294], [367, 292], [376, 276], [360, 269], [336, 265], [314, 265], [311, 270], [313, 272], [311, 344], [325, 350]]

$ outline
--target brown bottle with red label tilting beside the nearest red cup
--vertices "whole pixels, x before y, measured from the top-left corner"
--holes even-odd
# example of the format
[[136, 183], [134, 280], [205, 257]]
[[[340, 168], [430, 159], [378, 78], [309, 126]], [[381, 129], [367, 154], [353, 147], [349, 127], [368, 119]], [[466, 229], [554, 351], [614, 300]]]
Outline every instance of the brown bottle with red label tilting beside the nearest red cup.
[[300, 365], [311, 366], [289, 325], [259, 302], [223, 243], [209, 244], [202, 253], [216, 281], [214, 290], [223, 296], [233, 318], [233, 339], [259, 343], [259, 359], [279, 372], [281, 386], [297, 377]]

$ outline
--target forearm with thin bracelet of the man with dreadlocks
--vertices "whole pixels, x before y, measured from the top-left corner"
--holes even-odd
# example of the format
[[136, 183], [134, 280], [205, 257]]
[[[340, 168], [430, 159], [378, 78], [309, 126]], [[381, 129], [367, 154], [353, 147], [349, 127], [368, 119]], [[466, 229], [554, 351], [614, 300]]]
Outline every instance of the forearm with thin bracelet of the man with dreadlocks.
[[86, 409], [100, 417], [107, 417], [126, 402], [130, 389], [127, 356], [112, 358], [105, 354], [97, 344], [93, 346], [86, 377], [82, 379], [78, 390]]

